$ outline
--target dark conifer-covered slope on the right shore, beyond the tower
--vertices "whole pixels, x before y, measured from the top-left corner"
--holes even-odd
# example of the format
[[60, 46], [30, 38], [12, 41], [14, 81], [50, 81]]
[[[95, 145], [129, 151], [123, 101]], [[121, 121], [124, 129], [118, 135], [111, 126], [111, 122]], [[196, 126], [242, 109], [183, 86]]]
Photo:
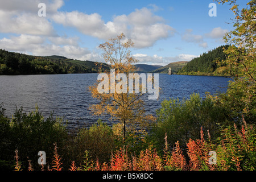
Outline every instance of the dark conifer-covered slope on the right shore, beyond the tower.
[[[183, 67], [178, 74], [180, 75], [224, 75], [216, 60], [226, 60], [223, 48], [227, 49], [229, 45], [214, 48], [212, 51], [204, 52], [199, 57], [195, 57]], [[215, 73], [215, 74], [214, 74]]]

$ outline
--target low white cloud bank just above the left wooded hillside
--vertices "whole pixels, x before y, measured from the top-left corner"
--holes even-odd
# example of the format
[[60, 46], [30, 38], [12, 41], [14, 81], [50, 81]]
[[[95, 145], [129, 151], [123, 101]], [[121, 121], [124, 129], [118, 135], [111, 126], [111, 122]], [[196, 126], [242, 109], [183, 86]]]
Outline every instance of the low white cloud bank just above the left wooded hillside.
[[9, 39], [0, 39], [0, 47], [36, 56], [61, 55], [78, 60], [101, 60], [100, 55], [89, 51], [88, 48], [80, 47], [77, 45], [76, 40], [77, 38], [42, 38], [41, 36], [22, 34], [20, 36], [11, 36]]

